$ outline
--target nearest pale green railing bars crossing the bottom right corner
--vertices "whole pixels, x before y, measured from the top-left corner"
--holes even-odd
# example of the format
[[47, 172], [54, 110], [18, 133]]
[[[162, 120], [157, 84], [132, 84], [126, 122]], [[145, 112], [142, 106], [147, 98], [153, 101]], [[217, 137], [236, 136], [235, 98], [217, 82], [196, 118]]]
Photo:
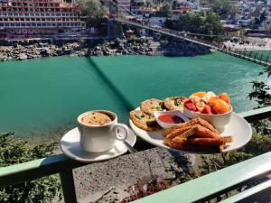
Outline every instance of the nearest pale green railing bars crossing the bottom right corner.
[[[258, 178], [271, 172], [271, 152], [262, 154], [248, 161], [242, 161], [238, 164], [229, 166], [220, 171], [212, 172], [200, 178], [187, 181], [171, 189], [165, 189], [146, 198], [141, 198], [135, 203], [187, 203], [187, 202], [205, 202], [211, 198], [219, 197], [221, 194], [245, 184], [249, 180]], [[271, 182], [257, 185], [254, 189], [245, 190], [236, 197], [232, 196], [224, 202], [237, 202], [242, 199], [244, 202], [249, 198], [256, 198], [262, 195], [263, 190], [271, 194]], [[261, 194], [257, 194], [261, 192]], [[268, 193], [267, 193], [268, 194]], [[235, 199], [234, 201], [230, 199]], [[255, 200], [255, 199], [254, 199]]]

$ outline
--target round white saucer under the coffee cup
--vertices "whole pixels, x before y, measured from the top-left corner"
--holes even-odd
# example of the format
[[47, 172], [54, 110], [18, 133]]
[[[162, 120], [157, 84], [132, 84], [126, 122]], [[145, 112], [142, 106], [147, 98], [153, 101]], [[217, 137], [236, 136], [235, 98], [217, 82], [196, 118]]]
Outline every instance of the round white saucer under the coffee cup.
[[[135, 145], [136, 136], [129, 129], [129, 134], [126, 139], [127, 143]], [[115, 147], [107, 152], [93, 153], [85, 152], [79, 144], [79, 129], [76, 127], [70, 130], [61, 138], [61, 152], [65, 153], [71, 159], [82, 162], [96, 162], [113, 159], [127, 152], [127, 147], [122, 141], [116, 141]]]

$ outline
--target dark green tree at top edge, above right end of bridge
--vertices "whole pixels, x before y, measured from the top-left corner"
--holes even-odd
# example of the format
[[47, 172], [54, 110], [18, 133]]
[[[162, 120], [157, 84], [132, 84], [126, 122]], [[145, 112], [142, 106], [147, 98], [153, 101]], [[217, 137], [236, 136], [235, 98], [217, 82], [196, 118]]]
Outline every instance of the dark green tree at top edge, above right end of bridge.
[[221, 19], [227, 19], [229, 15], [237, 12], [237, 8], [230, 0], [211, 0], [210, 8], [214, 13], [219, 14]]

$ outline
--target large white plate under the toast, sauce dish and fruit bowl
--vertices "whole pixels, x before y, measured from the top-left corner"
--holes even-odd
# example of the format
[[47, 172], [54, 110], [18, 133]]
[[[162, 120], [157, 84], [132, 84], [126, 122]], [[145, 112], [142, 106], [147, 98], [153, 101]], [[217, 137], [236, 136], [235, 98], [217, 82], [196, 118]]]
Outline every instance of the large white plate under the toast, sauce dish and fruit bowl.
[[[145, 142], [152, 143], [158, 147], [164, 147], [166, 149], [172, 149], [169, 146], [163, 143], [163, 130], [150, 132], [145, 131], [134, 125], [132, 120], [129, 120], [130, 126], [139, 137], [141, 137]], [[251, 139], [252, 136], [252, 129], [248, 122], [239, 116], [238, 114], [232, 112], [230, 121], [228, 125], [225, 125], [224, 131], [221, 133], [221, 136], [231, 135], [232, 136], [232, 143], [226, 145], [226, 149], [222, 152], [230, 152], [233, 150], [237, 150], [242, 146], [246, 145], [248, 141]], [[182, 151], [182, 152], [189, 152], [189, 151]], [[206, 152], [194, 152], [194, 153], [206, 153]]]

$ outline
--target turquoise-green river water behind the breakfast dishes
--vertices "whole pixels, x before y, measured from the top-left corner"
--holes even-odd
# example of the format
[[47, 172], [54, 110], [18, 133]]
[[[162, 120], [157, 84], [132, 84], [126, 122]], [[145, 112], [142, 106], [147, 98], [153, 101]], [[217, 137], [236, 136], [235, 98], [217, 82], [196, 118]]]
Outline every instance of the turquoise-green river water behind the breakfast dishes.
[[228, 92], [235, 111], [252, 109], [250, 82], [262, 69], [219, 52], [194, 58], [117, 56], [0, 63], [0, 133], [62, 134], [77, 116], [108, 109], [127, 123], [146, 98]]

